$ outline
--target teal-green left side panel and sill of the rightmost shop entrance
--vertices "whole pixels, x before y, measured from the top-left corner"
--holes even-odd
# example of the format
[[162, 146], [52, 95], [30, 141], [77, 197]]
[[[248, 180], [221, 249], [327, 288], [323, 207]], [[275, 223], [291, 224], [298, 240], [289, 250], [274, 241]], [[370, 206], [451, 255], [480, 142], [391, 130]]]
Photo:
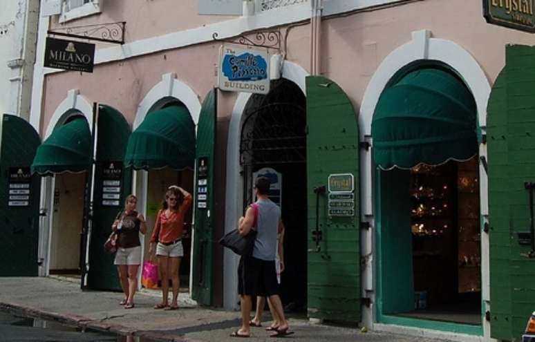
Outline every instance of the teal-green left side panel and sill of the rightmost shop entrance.
[[[409, 171], [375, 169], [375, 320], [378, 323], [482, 336], [481, 325], [467, 325], [395, 316], [414, 305], [412, 235], [409, 202]], [[409, 258], [407, 258], [409, 256]], [[395, 279], [395, 281], [392, 281]], [[402, 294], [409, 292], [409, 296]]]

